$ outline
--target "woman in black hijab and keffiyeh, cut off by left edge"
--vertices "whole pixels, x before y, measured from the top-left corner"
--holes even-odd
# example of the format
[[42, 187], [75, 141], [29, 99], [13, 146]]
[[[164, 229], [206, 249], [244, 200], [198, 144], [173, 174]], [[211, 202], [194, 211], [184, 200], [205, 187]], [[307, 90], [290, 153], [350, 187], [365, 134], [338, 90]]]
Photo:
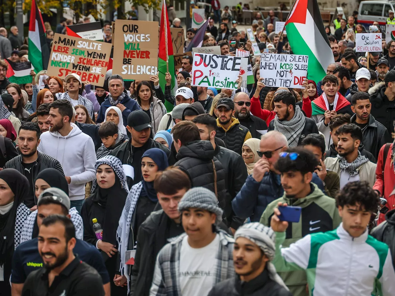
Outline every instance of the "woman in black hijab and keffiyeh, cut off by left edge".
[[0, 278], [2, 295], [11, 295], [9, 277], [14, 250], [21, 242], [23, 223], [30, 214], [23, 203], [28, 195], [29, 181], [15, 169], [0, 171]]

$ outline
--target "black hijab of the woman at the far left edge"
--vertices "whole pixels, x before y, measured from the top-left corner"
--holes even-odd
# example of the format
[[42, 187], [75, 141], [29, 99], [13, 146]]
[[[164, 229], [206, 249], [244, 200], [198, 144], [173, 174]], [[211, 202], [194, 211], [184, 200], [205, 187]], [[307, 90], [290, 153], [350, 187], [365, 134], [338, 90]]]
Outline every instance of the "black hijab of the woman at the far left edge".
[[[6, 214], [0, 215], [0, 265], [14, 251], [15, 220], [18, 218], [17, 208], [24, 201], [29, 191], [29, 181], [15, 169], [0, 171], [0, 179], [4, 180], [14, 193], [14, 204]], [[6, 240], [4, 240], [6, 237]]]

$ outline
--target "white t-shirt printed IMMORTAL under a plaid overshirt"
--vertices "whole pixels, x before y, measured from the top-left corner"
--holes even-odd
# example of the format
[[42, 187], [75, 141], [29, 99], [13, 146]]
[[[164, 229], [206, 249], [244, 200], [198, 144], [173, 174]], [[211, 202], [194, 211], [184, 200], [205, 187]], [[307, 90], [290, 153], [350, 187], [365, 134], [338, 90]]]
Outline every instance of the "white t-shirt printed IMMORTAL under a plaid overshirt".
[[220, 245], [218, 234], [203, 248], [192, 248], [185, 236], [180, 253], [180, 285], [182, 296], [207, 296], [215, 283], [216, 254]]

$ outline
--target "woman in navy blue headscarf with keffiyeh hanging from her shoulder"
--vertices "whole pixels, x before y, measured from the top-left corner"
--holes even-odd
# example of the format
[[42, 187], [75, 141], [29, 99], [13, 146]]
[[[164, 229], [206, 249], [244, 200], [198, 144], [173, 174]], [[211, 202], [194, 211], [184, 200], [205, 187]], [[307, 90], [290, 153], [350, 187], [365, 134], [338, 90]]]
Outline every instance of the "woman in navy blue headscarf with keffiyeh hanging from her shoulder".
[[[145, 219], [154, 211], [158, 197], [154, 189], [156, 172], [165, 170], [168, 166], [166, 153], [159, 148], [148, 149], [141, 157], [141, 172], [143, 180], [135, 184], [128, 194], [128, 199], [122, 210], [117, 230], [119, 242], [120, 273], [118, 285], [130, 282], [131, 265], [128, 261], [128, 251], [134, 250], [138, 230]], [[132, 230], [132, 231], [131, 231]]]

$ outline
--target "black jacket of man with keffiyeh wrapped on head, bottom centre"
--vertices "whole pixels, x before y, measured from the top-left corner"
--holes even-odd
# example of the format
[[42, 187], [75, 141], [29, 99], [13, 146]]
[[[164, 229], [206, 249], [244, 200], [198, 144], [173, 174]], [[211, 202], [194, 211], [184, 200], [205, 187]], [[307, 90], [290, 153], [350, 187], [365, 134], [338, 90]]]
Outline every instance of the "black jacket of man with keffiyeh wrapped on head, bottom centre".
[[267, 270], [249, 282], [242, 282], [239, 276], [218, 283], [208, 296], [292, 296], [283, 286], [269, 278]]

